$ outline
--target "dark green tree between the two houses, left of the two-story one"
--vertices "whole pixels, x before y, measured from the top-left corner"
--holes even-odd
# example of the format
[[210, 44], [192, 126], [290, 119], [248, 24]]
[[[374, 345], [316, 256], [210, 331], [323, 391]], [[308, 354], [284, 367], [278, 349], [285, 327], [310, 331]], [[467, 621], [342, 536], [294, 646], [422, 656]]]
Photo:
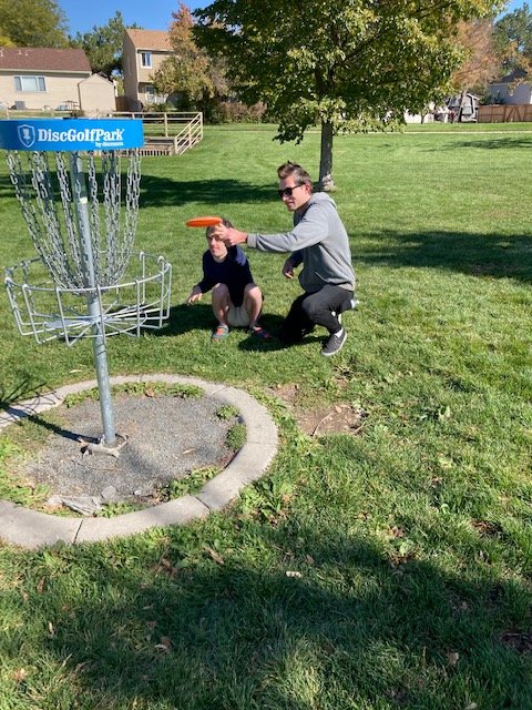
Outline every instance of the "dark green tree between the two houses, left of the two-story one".
[[[137, 24], [132, 27], [140, 29]], [[70, 45], [80, 48], [85, 52], [91, 70], [94, 73], [100, 73], [111, 79], [115, 73], [123, 73], [122, 45], [124, 30], [122, 12], [116, 11], [108, 24], [94, 26], [90, 32], [84, 32], [83, 34], [78, 32], [75, 38], [71, 38]]]

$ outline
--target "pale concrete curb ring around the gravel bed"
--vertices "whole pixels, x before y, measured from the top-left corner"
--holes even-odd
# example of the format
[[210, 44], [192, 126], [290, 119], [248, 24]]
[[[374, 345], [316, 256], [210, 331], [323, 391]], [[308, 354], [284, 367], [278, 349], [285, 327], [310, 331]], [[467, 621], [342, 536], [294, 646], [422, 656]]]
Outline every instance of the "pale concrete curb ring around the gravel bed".
[[[206, 396], [216, 396], [236, 407], [246, 426], [246, 443], [231, 464], [208, 480], [196, 495], [186, 495], [143, 510], [126, 513], [114, 518], [72, 518], [39, 513], [8, 500], [0, 500], [0, 538], [27, 549], [63, 541], [98, 542], [113, 537], [127, 537], [150, 528], [185, 525], [221, 510], [247, 484], [264, 475], [277, 453], [277, 427], [266, 408], [242, 389], [224, 384], [208, 383], [184, 375], [131, 375], [111, 377], [112, 385], [143, 382], [163, 382], [170, 385], [195, 385]], [[45, 395], [9, 407], [0, 415], [0, 429], [19, 419], [45, 412], [62, 404], [70, 394], [98, 387], [96, 381], [65, 385]]]

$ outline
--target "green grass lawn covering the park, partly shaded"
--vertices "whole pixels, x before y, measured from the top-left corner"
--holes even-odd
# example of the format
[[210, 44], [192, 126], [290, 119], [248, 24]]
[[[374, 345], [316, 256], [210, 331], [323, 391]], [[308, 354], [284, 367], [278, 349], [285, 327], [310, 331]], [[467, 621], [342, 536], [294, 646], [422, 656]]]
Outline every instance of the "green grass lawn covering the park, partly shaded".
[[[0, 710], [532, 708], [531, 128], [335, 140], [360, 307], [330, 359], [319, 332], [212, 346], [208, 298], [183, 305], [205, 248], [185, 220], [287, 230], [276, 166], [316, 175], [319, 134], [294, 146], [272, 126], [212, 126], [181, 158], [143, 160], [136, 246], [173, 263], [172, 317], [111, 338], [110, 374], [243, 387], [275, 417], [279, 454], [203, 523], [1, 546]], [[33, 247], [3, 164], [0, 196], [9, 266]], [[275, 332], [298, 286], [283, 255], [249, 258]], [[3, 406], [94, 377], [91, 343], [34, 345], [6, 296], [0, 315]], [[289, 384], [301, 406], [362, 408], [361, 432], [306, 436], [272, 395]], [[0, 468], [21, 439], [0, 437]], [[13, 490], [0, 473], [0, 494], [31, 496]]]

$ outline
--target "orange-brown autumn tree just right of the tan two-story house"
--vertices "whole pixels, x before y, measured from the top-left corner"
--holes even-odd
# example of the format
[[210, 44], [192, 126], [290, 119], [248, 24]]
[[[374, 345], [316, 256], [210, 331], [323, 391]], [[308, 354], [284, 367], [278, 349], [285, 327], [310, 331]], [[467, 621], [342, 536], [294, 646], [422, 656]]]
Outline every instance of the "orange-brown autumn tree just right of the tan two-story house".
[[194, 19], [188, 8], [180, 2], [172, 18], [170, 41], [174, 54], [162, 62], [152, 80], [160, 93], [174, 94], [180, 108], [186, 110], [222, 95], [227, 91], [227, 82], [222, 62], [209, 59], [196, 45], [192, 33]]

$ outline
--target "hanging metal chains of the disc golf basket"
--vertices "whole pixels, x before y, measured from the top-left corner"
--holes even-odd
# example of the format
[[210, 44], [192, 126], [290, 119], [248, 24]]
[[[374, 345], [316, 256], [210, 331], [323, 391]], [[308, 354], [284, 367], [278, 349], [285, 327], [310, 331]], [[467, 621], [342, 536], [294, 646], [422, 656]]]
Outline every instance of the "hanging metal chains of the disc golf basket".
[[[83, 163], [81, 172], [78, 171], [76, 179], [73, 180], [73, 163], [68, 164], [70, 154], [54, 153], [55, 171], [51, 170], [47, 153], [33, 152], [28, 155], [23, 162], [19, 152], [8, 151], [7, 162], [32, 242], [58, 286], [74, 291], [84, 288], [84, 256], [80, 243], [79, 210], [75, 206], [82, 196], [82, 180], [85, 180]], [[122, 233], [119, 152], [102, 152], [101, 184], [94, 153], [89, 153], [85, 159], [93, 268], [100, 286], [116, 285], [120, 282], [133, 250], [139, 214], [141, 158], [139, 150], [130, 150], [126, 155], [129, 165]], [[57, 194], [60, 203], [55, 199]], [[101, 231], [102, 206], [104, 234]]]

